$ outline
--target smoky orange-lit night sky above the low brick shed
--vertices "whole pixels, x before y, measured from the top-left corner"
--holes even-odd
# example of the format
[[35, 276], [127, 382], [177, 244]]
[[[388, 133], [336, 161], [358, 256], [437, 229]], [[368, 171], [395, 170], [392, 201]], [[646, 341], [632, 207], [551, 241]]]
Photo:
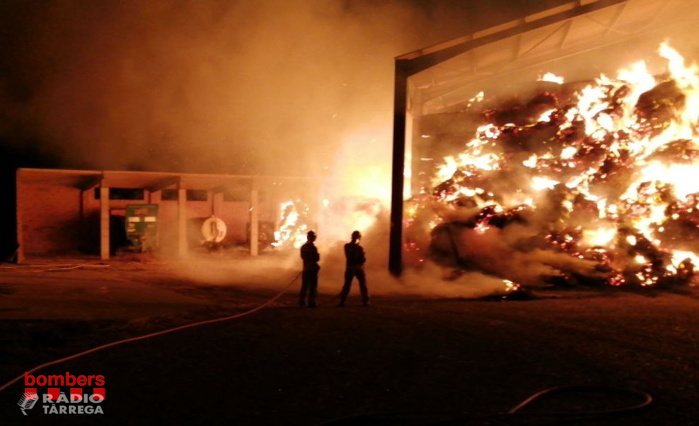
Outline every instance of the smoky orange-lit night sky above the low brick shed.
[[5, 163], [388, 170], [394, 56], [559, 3], [4, 0]]

